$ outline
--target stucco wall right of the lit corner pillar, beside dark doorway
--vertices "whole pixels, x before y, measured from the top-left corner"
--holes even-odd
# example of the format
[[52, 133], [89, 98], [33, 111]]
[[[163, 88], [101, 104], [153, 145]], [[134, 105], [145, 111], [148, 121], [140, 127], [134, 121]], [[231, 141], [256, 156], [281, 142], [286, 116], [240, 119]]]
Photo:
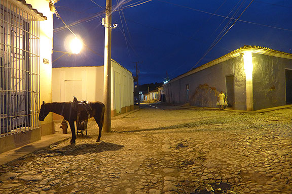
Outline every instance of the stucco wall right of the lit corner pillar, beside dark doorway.
[[253, 110], [286, 105], [285, 68], [292, 60], [263, 54], [252, 54]]

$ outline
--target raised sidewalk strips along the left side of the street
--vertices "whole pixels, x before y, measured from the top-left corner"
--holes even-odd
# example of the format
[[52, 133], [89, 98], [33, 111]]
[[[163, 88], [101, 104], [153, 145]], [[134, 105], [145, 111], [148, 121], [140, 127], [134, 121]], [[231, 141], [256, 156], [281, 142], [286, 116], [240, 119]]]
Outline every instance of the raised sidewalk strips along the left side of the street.
[[[124, 118], [127, 115], [134, 113], [138, 110], [140, 109], [135, 109], [133, 111], [118, 115], [116, 117], [112, 117], [112, 120]], [[35, 141], [26, 144], [25, 146], [0, 154], [0, 165], [17, 160], [20, 157], [23, 157], [38, 150], [42, 150], [44, 148], [51, 146], [52, 144], [57, 144], [69, 138], [71, 138], [71, 134], [63, 134], [60, 130], [56, 131], [55, 134], [42, 136], [41, 140], [39, 141]]]

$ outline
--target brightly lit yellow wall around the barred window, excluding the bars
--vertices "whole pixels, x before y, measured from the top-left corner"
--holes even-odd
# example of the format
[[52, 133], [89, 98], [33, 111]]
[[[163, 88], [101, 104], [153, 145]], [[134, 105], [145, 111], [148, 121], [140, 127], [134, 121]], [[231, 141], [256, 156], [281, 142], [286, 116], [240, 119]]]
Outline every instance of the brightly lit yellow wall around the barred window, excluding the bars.
[[[26, 0], [26, 3], [47, 17], [47, 20], [40, 21], [40, 100], [52, 102], [53, 13], [50, 11], [47, 0]], [[19, 2], [19, 4], [22, 3]], [[43, 63], [44, 58], [49, 60], [49, 64]], [[52, 114], [49, 114], [45, 121], [41, 122], [41, 128], [0, 138], [0, 153], [40, 140], [41, 135], [52, 133], [55, 133], [54, 122]]]

